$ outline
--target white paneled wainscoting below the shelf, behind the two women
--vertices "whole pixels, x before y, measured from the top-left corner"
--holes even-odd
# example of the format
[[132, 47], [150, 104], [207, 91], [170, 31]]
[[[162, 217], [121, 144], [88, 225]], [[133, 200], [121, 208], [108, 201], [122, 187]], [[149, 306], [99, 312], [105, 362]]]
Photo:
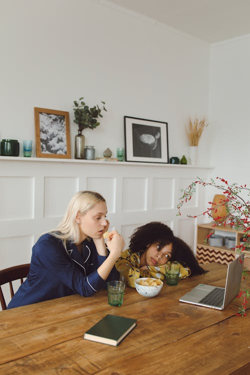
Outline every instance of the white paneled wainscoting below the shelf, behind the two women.
[[101, 193], [110, 228], [128, 247], [134, 228], [159, 220], [195, 249], [196, 220], [186, 215], [206, 206], [197, 190], [176, 216], [181, 188], [211, 167], [97, 160], [0, 156], [0, 269], [30, 261], [39, 235], [55, 228], [71, 196], [79, 190]]

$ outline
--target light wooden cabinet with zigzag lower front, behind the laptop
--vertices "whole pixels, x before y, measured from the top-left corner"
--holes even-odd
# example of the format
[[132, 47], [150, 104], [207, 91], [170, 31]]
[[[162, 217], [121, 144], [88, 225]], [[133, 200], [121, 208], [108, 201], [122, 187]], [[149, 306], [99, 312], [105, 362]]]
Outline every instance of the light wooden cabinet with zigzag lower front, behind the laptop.
[[[210, 262], [228, 264], [235, 259], [237, 248], [227, 248], [226, 246], [211, 246], [208, 243], [206, 235], [211, 230], [215, 230], [215, 234], [222, 236], [235, 237], [235, 245], [239, 245], [240, 238], [243, 235], [242, 231], [233, 229], [230, 225], [212, 226], [213, 223], [197, 225], [197, 241], [196, 241], [196, 257], [199, 263], [206, 264]], [[244, 265], [250, 270], [250, 249], [244, 250], [245, 258]]]

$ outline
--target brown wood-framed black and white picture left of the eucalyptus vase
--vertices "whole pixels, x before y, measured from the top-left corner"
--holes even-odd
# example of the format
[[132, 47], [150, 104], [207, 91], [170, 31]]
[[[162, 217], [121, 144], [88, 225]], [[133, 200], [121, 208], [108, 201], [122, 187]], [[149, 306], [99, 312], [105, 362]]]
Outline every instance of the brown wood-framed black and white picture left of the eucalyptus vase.
[[71, 158], [69, 114], [34, 107], [36, 157]]

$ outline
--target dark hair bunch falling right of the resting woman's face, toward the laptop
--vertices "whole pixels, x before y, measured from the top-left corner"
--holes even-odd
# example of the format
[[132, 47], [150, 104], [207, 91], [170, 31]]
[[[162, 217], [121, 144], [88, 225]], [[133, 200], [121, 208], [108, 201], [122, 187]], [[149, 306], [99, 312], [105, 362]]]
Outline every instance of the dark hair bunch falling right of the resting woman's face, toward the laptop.
[[207, 272], [200, 267], [188, 244], [178, 237], [174, 237], [172, 241], [171, 261], [173, 260], [177, 260], [183, 266], [187, 265], [191, 270], [191, 275]]

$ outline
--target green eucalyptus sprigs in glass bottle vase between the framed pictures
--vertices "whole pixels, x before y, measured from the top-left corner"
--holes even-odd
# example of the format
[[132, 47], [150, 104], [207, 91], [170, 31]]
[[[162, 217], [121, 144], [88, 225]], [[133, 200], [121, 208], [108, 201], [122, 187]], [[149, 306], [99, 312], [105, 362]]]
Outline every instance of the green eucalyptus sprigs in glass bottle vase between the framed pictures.
[[85, 137], [81, 133], [82, 130], [89, 128], [95, 129], [96, 126], [99, 126], [99, 122], [97, 121], [98, 117], [102, 117], [101, 111], [106, 111], [104, 107], [105, 102], [101, 101], [102, 106], [99, 107], [98, 104], [94, 105], [93, 107], [89, 108], [88, 105], [85, 104], [83, 101], [83, 97], [80, 97], [78, 101], [74, 100], [74, 123], [78, 125], [78, 134], [75, 135], [74, 139], [74, 158], [75, 159], [83, 159], [84, 158], [84, 144], [85, 144]]

